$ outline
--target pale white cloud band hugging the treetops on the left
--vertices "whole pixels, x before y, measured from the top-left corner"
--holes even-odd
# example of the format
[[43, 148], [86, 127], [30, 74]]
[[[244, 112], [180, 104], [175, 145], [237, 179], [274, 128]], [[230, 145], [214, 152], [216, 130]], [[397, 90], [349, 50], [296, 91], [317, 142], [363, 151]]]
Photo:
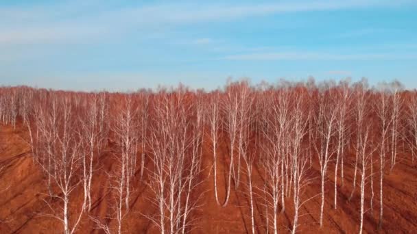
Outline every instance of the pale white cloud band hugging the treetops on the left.
[[[217, 73], [178, 73], [178, 72], [89, 72], [89, 73], [45, 73], [35, 72], [30, 75], [23, 73], [16, 79], [6, 79], [2, 81], [0, 70], [0, 82], [6, 86], [25, 85], [53, 88], [58, 90], [77, 90], [77, 91], [94, 91], [108, 90], [110, 92], [128, 92], [136, 91], [139, 88], [156, 89], [158, 86], [165, 88], [177, 87], [178, 83], [193, 89], [205, 88], [211, 90], [222, 86], [226, 76]], [[115, 86], [117, 83], [117, 86]]]

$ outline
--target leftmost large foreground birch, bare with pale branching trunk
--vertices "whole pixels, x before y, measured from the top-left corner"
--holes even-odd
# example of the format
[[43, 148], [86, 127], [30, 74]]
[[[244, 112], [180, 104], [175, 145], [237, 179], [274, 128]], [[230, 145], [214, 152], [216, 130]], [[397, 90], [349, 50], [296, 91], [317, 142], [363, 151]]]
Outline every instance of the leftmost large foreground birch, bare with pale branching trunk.
[[[48, 174], [53, 185], [56, 185], [54, 187], [58, 188], [58, 192], [52, 197], [62, 201], [62, 213], [56, 213], [47, 202], [46, 204], [53, 213], [42, 215], [60, 220], [64, 227], [64, 233], [69, 234], [74, 233], [77, 229], [85, 208], [84, 200], [77, 213], [71, 213], [69, 209], [71, 194], [80, 185], [77, 182], [77, 174], [81, 167], [81, 144], [76, 134], [77, 122], [75, 120], [77, 118], [71, 109], [71, 96], [64, 96], [53, 103], [58, 104], [60, 108], [49, 107], [52, 112], [56, 113], [42, 116], [42, 118], [53, 116], [53, 120], [49, 120], [49, 127], [40, 126], [41, 134], [47, 138], [40, 138], [40, 142], [38, 142], [40, 147], [43, 147], [39, 153], [42, 156], [47, 156], [49, 164], [45, 164], [45, 161], [42, 160], [39, 161], [39, 165]], [[43, 123], [46, 121], [48, 120]], [[45, 140], [49, 142], [44, 142]], [[71, 223], [72, 216], [75, 216], [73, 223]]]

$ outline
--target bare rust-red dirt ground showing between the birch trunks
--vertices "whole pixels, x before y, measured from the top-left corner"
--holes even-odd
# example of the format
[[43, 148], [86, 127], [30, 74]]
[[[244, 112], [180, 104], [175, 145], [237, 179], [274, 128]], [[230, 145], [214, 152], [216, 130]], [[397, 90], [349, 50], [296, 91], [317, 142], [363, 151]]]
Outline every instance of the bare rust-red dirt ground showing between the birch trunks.
[[[60, 233], [62, 224], [53, 218], [45, 216], [51, 209], [45, 201], [56, 207], [57, 200], [51, 200], [47, 195], [43, 173], [34, 164], [29, 148], [27, 132], [21, 127], [13, 129], [0, 125], [0, 233]], [[206, 142], [207, 143], [207, 142]], [[417, 230], [417, 164], [412, 164], [409, 155], [400, 155], [398, 162], [390, 174], [385, 174], [384, 181], [384, 219], [383, 229], [378, 230], [379, 217], [379, 174], [374, 174], [374, 204], [373, 213], [370, 210], [370, 186], [367, 184], [364, 231], [366, 233], [416, 233]], [[203, 152], [204, 182], [198, 187], [201, 195], [201, 207], [192, 213], [192, 233], [250, 233], [250, 209], [246, 192], [247, 178], [241, 176], [237, 190], [233, 185], [230, 201], [226, 207], [217, 205], [213, 192], [213, 159], [209, 147], [204, 146]], [[316, 178], [305, 190], [302, 200], [314, 197], [300, 209], [300, 233], [357, 233], [359, 231], [359, 187], [348, 201], [353, 181], [353, 159], [346, 157], [344, 186], [341, 179], [337, 180], [338, 207], [333, 207], [334, 168], [329, 167], [326, 180], [326, 203], [324, 205], [324, 226], [320, 229], [320, 172], [318, 165], [313, 164], [309, 170], [310, 177]], [[93, 209], [91, 216], [108, 213], [109, 193], [106, 170], [111, 170], [112, 157], [104, 153], [96, 177], [93, 179]], [[313, 159], [314, 161], [314, 159]], [[226, 178], [228, 173], [228, 150], [226, 146], [219, 148], [217, 181], [219, 199], [222, 202], [226, 194]], [[256, 186], [263, 185], [261, 169], [256, 166], [253, 180]], [[378, 168], [375, 168], [377, 171]], [[158, 233], [144, 214], [154, 212], [155, 208], [149, 201], [152, 191], [147, 187], [147, 177], [139, 180], [139, 172], [134, 183], [134, 193], [130, 212], [123, 222], [124, 233]], [[261, 192], [255, 187], [255, 222], [257, 231], [265, 233], [265, 208], [262, 205]], [[73, 203], [83, 198], [82, 187], [74, 192]], [[72, 207], [75, 209], [75, 206]], [[285, 203], [285, 211], [278, 218], [279, 232], [287, 233], [291, 229], [294, 216], [292, 198]], [[106, 220], [106, 222], [116, 222]], [[84, 215], [77, 233], [102, 233], [95, 229], [95, 224]]]

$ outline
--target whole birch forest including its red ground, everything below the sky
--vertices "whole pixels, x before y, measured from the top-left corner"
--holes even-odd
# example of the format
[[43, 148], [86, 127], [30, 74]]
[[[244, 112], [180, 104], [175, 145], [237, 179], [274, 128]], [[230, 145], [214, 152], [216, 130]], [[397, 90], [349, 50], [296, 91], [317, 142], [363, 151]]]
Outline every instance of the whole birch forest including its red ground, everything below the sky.
[[0, 88], [0, 233], [410, 233], [417, 92]]

